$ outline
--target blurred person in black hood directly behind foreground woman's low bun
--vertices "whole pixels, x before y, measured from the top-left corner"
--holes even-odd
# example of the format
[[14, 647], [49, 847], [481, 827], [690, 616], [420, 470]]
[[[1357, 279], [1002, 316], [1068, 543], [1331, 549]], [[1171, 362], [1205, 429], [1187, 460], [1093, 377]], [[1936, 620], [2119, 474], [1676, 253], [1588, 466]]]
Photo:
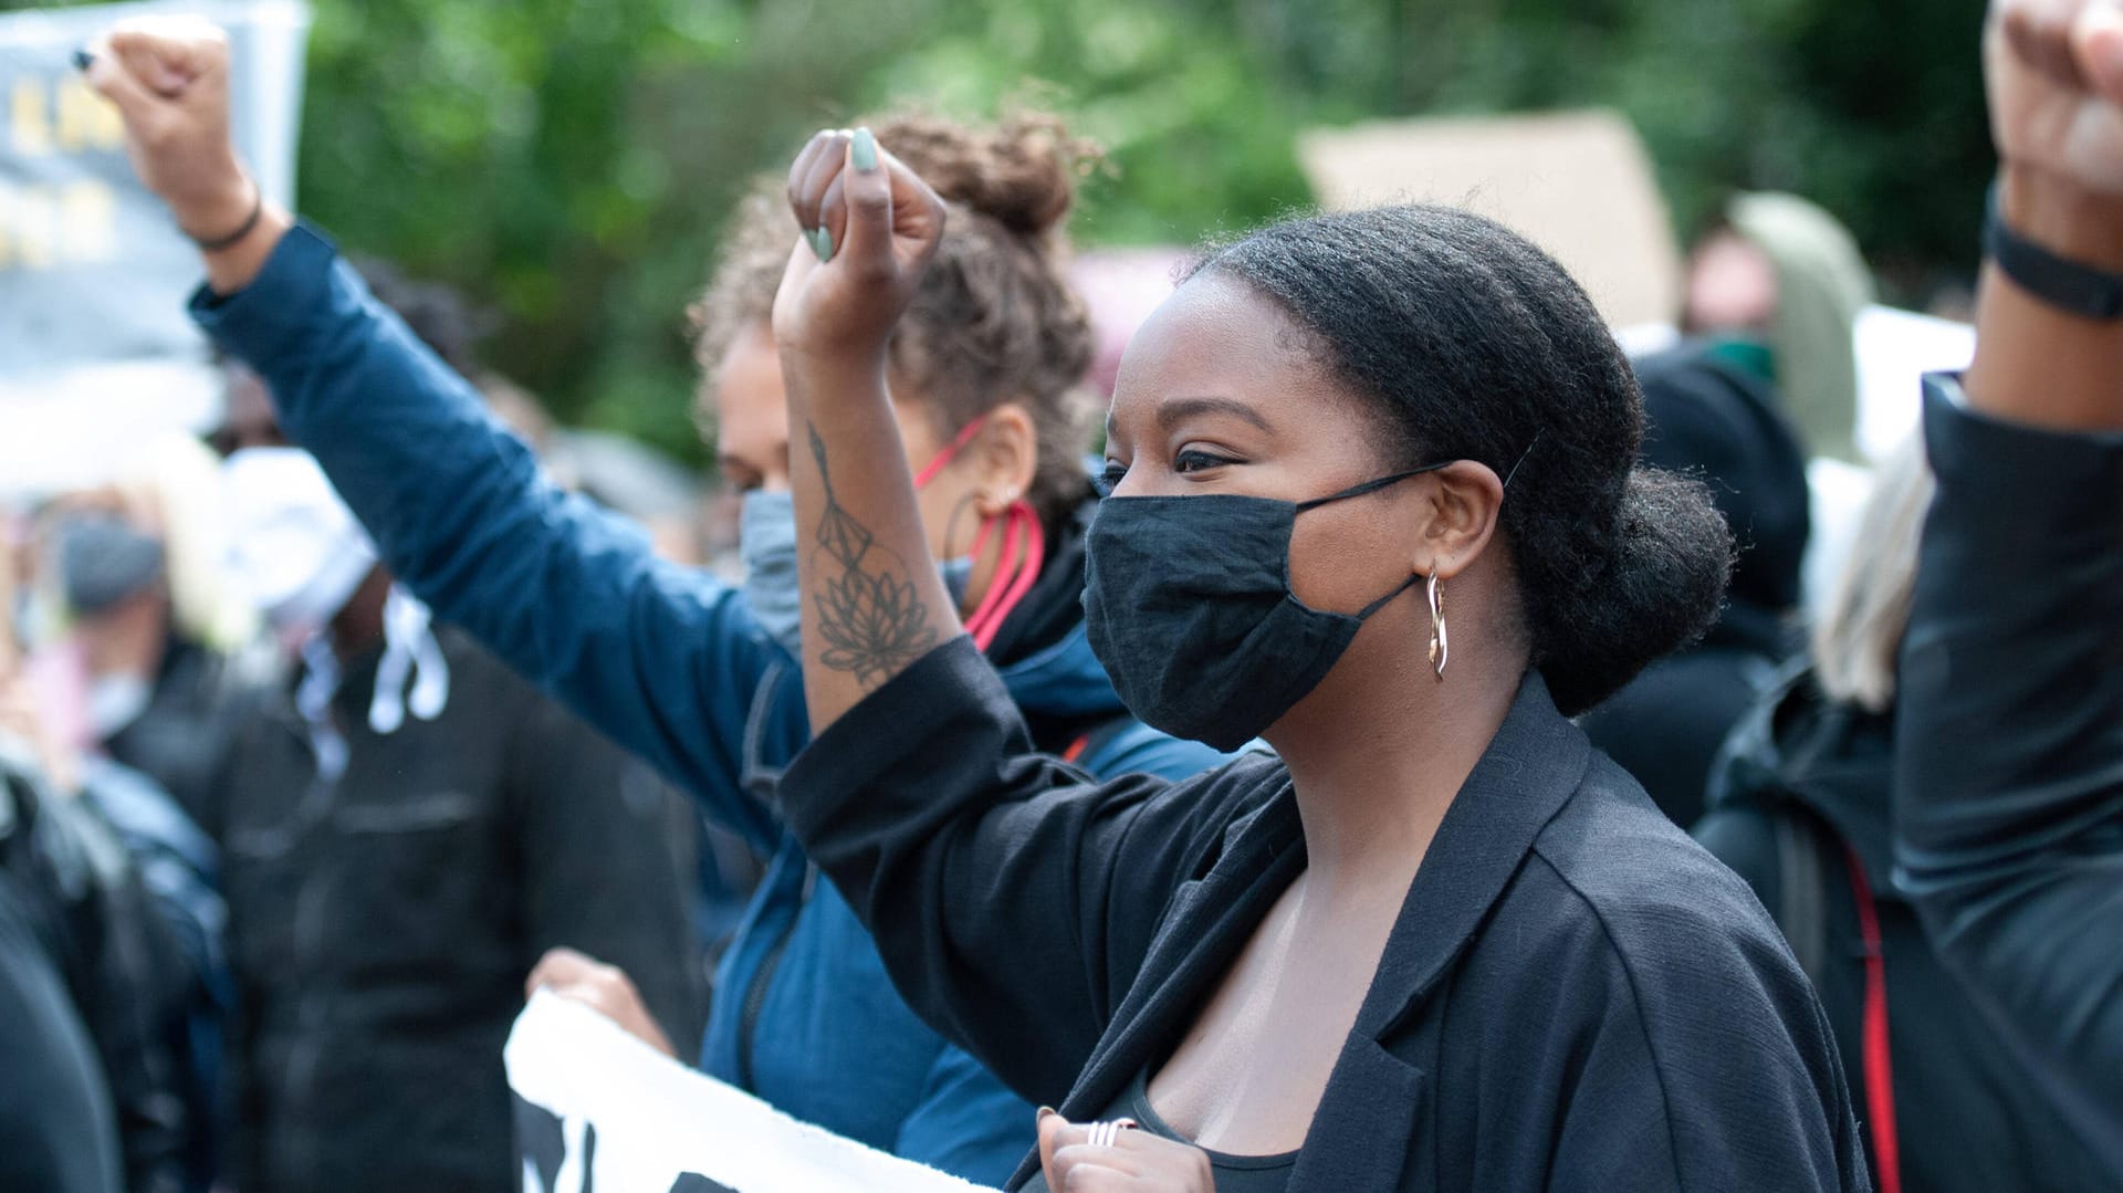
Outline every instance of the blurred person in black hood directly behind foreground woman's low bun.
[[1637, 361], [1643, 463], [1703, 480], [1737, 539], [1718, 624], [1580, 717], [1673, 824], [1703, 815], [1711, 760], [1796, 650], [1807, 461], [1768, 382], [1715, 344]]

